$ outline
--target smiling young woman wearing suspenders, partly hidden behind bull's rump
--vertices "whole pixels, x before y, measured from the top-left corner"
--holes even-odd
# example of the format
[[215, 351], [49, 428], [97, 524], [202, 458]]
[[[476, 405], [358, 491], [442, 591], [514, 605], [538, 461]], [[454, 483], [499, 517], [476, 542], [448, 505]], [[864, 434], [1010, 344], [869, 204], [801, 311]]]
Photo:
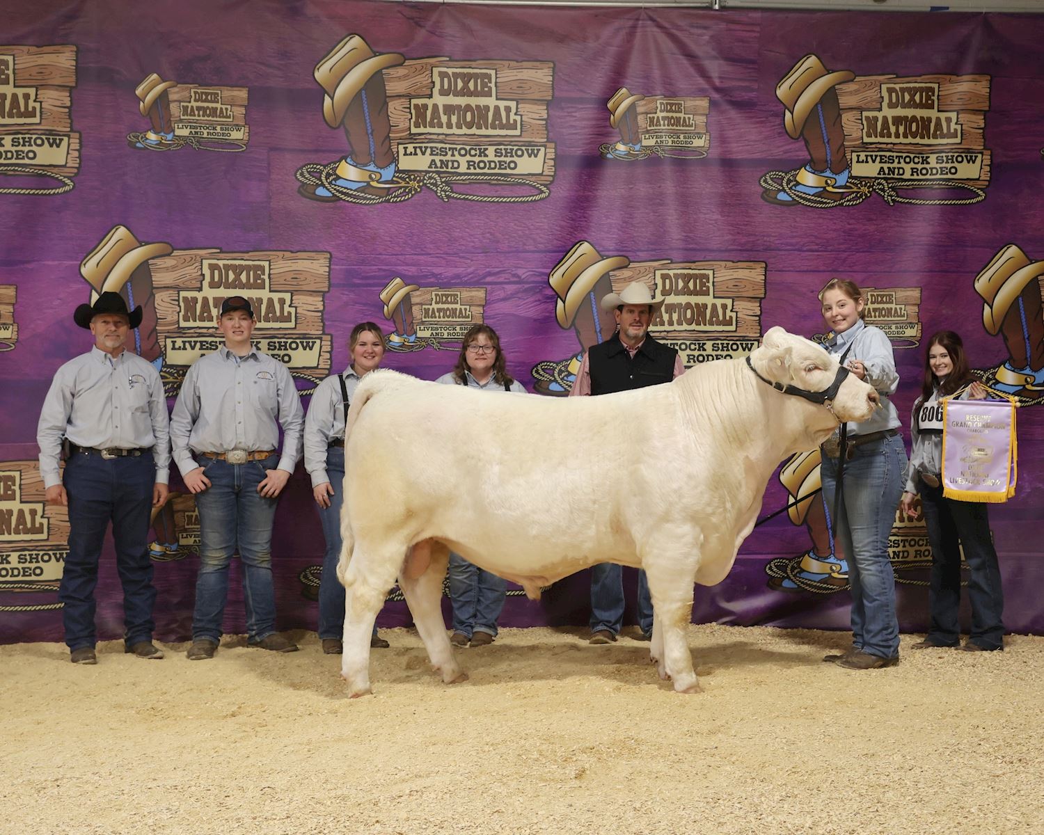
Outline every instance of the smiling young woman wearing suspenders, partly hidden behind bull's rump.
[[[312, 496], [319, 507], [326, 539], [323, 576], [319, 579], [318, 635], [323, 651], [339, 655], [345, 634], [345, 587], [337, 579], [340, 556], [340, 508], [345, 502], [345, 418], [359, 381], [379, 367], [384, 358], [384, 334], [372, 321], [360, 321], [348, 340], [352, 362], [341, 373], [327, 377], [312, 395], [305, 415], [305, 469], [312, 479]], [[377, 635], [370, 646], [384, 648], [388, 642]]]

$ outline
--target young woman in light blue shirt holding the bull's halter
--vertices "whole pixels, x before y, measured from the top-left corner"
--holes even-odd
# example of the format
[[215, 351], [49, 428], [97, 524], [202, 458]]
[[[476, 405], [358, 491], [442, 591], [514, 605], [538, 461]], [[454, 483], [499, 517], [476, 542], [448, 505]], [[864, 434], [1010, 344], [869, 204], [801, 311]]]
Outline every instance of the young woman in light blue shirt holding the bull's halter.
[[[823, 500], [834, 538], [848, 555], [852, 587], [852, 648], [824, 661], [853, 670], [891, 667], [899, 663], [899, 620], [888, 535], [907, 463], [899, 415], [889, 400], [899, 375], [888, 337], [863, 321], [865, 300], [855, 282], [831, 279], [820, 291], [820, 302], [823, 318], [833, 331], [827, 351], [880, 397], [880, 408], [873, 416], [848, 424], [845, 449], [836, 436], [822, 447]], [[837, 518], [833, 519], [835, 505]]]

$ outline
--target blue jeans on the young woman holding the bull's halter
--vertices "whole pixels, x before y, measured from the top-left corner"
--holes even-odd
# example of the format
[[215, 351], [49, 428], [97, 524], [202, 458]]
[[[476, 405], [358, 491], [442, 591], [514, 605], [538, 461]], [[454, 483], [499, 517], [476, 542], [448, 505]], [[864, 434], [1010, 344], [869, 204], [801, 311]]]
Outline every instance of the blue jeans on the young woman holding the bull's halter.
[[820, 475], [827, 519], [848, 554], [852, 645], [871, 655], [896, 658], [899, 619], [888, 536], [906, 479], [906, 449], [899, 435], [856, 447], [852, 460], [845, 462], [839, 518], [833, 519], [837, 463], [824, 454]]

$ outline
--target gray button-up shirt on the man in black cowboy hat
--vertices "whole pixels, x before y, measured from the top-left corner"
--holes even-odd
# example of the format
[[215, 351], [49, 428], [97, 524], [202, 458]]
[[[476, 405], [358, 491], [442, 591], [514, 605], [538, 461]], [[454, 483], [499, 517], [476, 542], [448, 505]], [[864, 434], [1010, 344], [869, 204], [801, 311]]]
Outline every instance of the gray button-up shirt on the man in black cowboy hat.
[[37, 443], [44, 486], [62, 483], [62, 438], [80, 447], [151, 448], [156, 481], [167, 483], [167, 400], [156, 367], [124, 351], [113, 359], [97, 347], [57, 369], [40, 410]]

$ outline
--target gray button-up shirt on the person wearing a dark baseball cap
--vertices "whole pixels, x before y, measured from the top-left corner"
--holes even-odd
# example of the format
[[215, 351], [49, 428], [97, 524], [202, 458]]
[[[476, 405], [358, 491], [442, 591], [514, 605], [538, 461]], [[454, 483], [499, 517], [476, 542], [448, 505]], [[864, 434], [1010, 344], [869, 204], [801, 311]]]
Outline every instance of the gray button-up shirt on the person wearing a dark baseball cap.
[[185, 375], [170, 415], [174, 462], [184, 476], [199, 467], [193, 454], [274, 450], [282, 426], [279, 469], [292, 473], [304, 425], [301, 398], [282, 362], [256, 348], [237, 357], [221, 345]]

